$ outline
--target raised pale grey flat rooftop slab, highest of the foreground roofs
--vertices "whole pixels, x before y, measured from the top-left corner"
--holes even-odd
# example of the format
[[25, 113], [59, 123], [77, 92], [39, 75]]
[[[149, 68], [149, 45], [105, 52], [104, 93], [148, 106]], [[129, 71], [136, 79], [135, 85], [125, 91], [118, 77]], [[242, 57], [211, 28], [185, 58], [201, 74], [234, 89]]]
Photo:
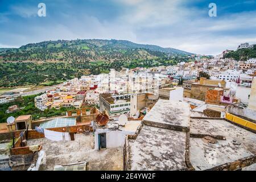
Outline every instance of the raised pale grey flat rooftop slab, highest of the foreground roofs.
[[143, 121], [189, 127], [189, 104], [179, 101], [158, 100]]

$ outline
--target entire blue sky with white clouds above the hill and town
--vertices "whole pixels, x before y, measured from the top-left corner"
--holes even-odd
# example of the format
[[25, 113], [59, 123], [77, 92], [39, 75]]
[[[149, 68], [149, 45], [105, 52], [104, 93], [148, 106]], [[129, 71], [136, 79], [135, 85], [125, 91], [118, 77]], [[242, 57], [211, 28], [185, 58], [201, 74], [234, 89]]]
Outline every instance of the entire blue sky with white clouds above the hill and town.
[[[46, 16], [38, 16], [39, 3]], [[216, 3], [216, 17], [208, 14], [210, 3]], [[256, 0], [0, 0], [0, 48], [74, 39], [217, 55], [256, 43]]]

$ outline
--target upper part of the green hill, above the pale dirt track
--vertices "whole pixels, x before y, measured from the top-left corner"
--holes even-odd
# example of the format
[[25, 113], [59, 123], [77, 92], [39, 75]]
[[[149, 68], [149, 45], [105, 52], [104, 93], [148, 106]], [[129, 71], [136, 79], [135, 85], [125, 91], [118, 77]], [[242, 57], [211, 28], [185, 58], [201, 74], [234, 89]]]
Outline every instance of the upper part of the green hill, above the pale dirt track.
[[2, 61], [98, 61], [156, 59], [170, 55], [191, 55], [174, 48], [135, 44], [127, 40], [56, 40], [27, 44], [0, 52]]

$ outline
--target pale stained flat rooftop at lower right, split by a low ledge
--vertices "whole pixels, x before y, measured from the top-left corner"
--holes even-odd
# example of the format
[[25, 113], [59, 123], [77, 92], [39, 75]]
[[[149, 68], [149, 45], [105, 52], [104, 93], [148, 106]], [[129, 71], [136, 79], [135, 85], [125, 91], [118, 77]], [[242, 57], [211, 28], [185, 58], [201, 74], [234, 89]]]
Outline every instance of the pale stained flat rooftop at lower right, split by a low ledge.
[[190, 133], [226, 138], [214, 144], [201, 138], [190, 138], [190, 160], [196, 170], [210, 169], [256, 154], [256, 135], [224, 119], [191, 119]]

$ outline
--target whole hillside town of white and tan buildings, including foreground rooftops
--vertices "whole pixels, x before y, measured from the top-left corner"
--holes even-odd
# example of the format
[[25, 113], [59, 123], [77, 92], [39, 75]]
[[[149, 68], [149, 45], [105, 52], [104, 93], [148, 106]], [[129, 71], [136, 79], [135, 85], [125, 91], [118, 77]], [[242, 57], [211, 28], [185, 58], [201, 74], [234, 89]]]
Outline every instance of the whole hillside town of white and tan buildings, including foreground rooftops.
[[[228, 52], [44, 90], [39, 110], [71, 109], [0, 123], [0, 170], [256, 170], [256, 57]], [[0, 104], [23, 93], [9, 90]]]

